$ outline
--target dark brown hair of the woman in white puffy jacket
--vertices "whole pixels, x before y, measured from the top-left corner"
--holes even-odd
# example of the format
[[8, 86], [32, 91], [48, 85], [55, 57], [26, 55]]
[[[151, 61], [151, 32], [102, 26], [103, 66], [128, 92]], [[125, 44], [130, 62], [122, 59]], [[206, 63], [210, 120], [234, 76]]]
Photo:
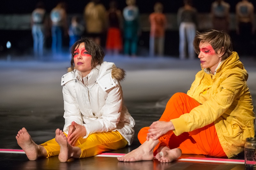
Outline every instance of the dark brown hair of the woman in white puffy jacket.
[[72, 47], [71, 47], [71, 70], [74, 70], [74, 52], [76, 51], [76, 49], [78, 48], [78, 46], [84, 43], [84, 47], [85, 49], [89, 52], [90, 55], [92, 55], [92, 69], [94, 67], [96, 67], [96, 65], [101, 64], [103, 62], [103, 58], [105, 56], [105, 52], [104, 50], [100, 47], [100, 45], [98, 45], [96, 42], [92, 41], [91, 39], [89, 39], [88, 37], [82, 37], [81, 39], [79, 39], [78, 41], [76, 41]]

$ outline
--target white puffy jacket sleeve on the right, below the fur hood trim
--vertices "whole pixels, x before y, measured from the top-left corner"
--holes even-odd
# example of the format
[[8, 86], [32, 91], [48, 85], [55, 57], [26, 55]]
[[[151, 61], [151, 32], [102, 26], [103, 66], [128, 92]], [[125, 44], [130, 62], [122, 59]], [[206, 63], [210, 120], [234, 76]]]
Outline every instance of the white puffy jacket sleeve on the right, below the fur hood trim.
[[103, 114], [96, 120], [85, 123], [86, 136], [99, 132], [108, 132], [116, 129], [120, 120], [122, 110], [122, 96], [123, 92], [118, 81], [115, 81], [115, 86], [108, 89], [108, 97], [106, 98], [105, 105], [102, 107]]

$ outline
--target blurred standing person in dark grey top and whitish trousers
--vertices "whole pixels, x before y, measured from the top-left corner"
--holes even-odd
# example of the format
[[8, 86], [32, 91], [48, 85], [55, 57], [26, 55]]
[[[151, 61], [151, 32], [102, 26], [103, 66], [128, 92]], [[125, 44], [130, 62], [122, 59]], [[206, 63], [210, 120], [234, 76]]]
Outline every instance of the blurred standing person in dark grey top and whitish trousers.
[[197, 10], [192, 6], [192, 0], [184, 0], [184, 6], [180, 7], [177, 14], [180, 34], [180, 59], [186, 58], [186, 47], [188, 45], [188, 58], [194, 59], [196, 53], [193, 40], [196, 36]]

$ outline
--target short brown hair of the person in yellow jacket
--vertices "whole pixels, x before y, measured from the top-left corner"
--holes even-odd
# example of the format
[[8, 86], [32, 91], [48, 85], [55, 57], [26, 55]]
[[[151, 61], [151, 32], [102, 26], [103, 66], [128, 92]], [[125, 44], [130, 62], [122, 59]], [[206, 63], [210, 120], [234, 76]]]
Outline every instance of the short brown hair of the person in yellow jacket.
[[201, 41], [210, 43], [214, 51], [220, 50], [220, 53], [224, 52], [222, 55], [222, 61], [227, 59], [233, 52], [231, 38], [226, 32], [213, 29], [202, 33], [196, 31], [196, 36], [193, 42], [196, 54], [200, 53], [199, 43]]

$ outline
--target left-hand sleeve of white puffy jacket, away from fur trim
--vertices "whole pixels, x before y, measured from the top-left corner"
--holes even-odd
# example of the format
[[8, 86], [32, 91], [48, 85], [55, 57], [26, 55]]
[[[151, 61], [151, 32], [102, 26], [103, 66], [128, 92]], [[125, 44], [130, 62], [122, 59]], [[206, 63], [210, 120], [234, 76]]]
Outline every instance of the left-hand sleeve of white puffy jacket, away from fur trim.
[[[62, 88], [63, 100], [64, 100], [64, 119], [65, 125], [63, 131], [68, 134], [68, 127], [71, 122], [75, 121], [77, 124], [82, 125], [83, 120], [81, 117], [81, 112], [76, 102], [76, 92], [75, 87], [70, 88], [73, 85], [72, 82], [65, 84]], [[73, 91], [72, 91], [73, 90]]]

